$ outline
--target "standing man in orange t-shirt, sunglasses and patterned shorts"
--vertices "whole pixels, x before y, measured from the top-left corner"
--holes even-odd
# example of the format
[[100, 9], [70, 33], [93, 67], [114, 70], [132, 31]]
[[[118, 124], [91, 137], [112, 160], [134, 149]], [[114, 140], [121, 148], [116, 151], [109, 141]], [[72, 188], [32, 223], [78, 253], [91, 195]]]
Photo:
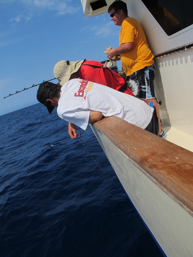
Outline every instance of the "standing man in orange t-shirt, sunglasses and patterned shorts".
[[108, 13], [110, 13], [114, 24], [121, 26], [121, 32], [119, 47], [111, 49], [107, 53], [107, 57], [111, 59], [116, 55], [115, 60], [121, 60], [127, 80], [137, 76], [140, 83], [138, 97], [148, 105], [149, 102], [153, 102], [159, 119], [159, 136], [166, 138], [167, 134], [161, 128], [160, 112], [154, 93], [154, 56], [148, 46], [142, 26], [136, 19], [128, 16], [127, 4], [121, 0], [113, 2], [108, 8]]

